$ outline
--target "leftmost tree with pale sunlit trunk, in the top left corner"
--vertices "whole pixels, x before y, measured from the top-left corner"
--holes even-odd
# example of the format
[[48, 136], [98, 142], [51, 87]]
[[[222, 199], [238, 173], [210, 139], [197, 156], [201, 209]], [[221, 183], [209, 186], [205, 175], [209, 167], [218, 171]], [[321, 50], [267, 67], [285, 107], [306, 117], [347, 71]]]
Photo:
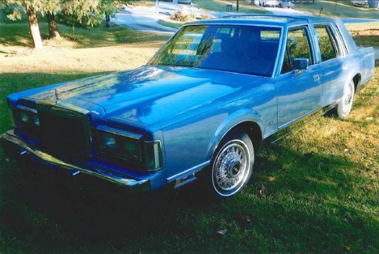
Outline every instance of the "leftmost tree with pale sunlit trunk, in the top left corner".
[[33, 39], [34, 48], [43, 47], [41, 34], [39, 32], [39, 25], [37, 19], [37, 12], [43, 6], [43, 0], [0, 0], [1, 6], [10, 10], [7, 15], [9, 19], [21, 19], [21, 11], [28, 14], [30, 34]]

